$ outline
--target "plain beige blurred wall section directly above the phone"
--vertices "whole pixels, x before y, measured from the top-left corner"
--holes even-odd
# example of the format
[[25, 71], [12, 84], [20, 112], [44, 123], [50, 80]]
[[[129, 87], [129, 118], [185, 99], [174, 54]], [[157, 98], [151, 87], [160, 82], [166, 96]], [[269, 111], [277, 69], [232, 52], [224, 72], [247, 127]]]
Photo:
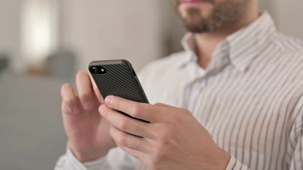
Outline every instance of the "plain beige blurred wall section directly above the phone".
[[93, 60], [125, 58], [139, 70], [162, 54], [163, 3], [62, 1], [60, 46], [77, 53], [79, 69], [87, 70]]

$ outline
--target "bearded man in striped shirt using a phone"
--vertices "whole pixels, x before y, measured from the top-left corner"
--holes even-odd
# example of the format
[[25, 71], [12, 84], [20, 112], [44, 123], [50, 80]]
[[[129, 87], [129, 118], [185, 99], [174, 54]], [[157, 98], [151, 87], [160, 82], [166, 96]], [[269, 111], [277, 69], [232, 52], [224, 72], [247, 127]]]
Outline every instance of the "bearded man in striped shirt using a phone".
[[158, 104], [104, 100], [79, 72], [77, 95], [62, 87], [69, 140], [56, 169], [303, 169], [303, 44], [257, 0], [174, 4], [185, 51], [139, 75]]

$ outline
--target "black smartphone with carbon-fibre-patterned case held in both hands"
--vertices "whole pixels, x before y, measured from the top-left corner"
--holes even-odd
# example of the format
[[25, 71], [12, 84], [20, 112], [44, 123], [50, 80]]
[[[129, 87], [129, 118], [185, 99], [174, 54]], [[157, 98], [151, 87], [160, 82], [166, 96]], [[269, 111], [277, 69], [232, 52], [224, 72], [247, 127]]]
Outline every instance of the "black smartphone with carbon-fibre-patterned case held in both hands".
[[[125, 59], [92, 61], [89, 63], [88, 70], [104, 99], [108, 95], [113, 95], [136, 102], [149, 103], [129, 61]], [[126, 113], [120, 113], [131, 117]], [[137, 120], [149, 123], [146, 120]]]

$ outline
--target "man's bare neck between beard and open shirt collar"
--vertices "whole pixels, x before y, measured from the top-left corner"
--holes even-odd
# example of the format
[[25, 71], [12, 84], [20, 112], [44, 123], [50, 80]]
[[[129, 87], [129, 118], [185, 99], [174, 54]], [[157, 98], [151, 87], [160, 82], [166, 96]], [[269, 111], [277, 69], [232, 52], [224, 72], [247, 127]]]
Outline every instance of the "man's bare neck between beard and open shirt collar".
[[216, 31], [194, 34], [198, 65], [206, 70], [210, 65], [213, 52], [218, 44], [229, 35], [253, 23], [258, 16], [259, 14], [257, 10], [255, 10], [255, 12], [247, 13], [246, 16], [241, 16], [239, 19], [235, 20], [235, 22], [222, 25], [222, 27]]

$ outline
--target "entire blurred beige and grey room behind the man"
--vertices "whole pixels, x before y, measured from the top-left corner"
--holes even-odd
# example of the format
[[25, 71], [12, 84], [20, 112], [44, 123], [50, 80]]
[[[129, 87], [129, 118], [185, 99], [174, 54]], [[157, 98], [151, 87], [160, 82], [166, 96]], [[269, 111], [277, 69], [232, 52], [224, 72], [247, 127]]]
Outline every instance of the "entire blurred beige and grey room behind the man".
[[[303, 1], [260, 0], [303, 39]], [[64, 154], [60, 88], [92, 60], [147, 62], [181, 51], [166, 0], [0, 0], [0, 169], [53, 169]]]

